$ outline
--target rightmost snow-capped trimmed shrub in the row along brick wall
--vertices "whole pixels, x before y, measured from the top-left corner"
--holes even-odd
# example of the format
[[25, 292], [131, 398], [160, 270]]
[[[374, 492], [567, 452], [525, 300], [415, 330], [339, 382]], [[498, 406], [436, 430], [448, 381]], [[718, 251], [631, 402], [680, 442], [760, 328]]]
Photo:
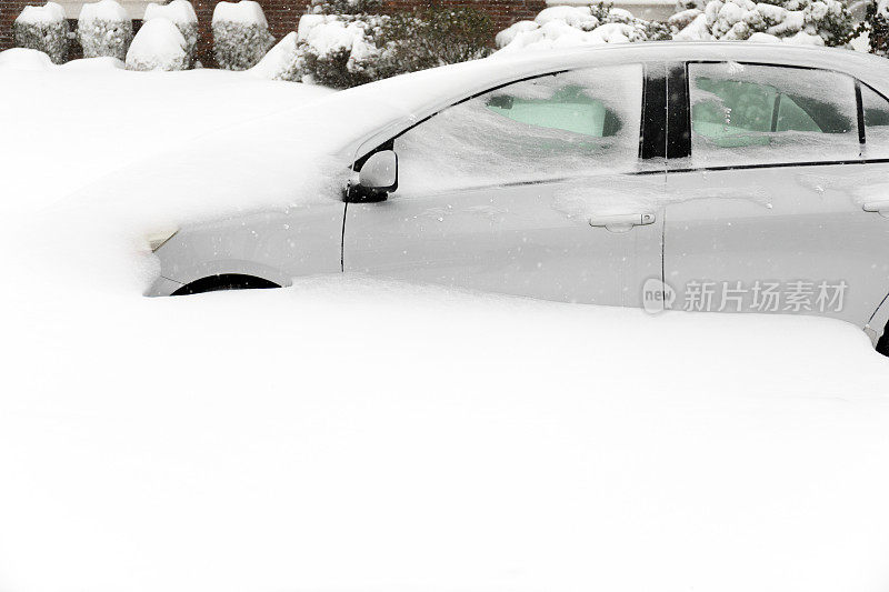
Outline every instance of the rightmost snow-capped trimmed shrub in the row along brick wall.
[[213, 54], [226, 70], [247, 70], [274, 44], [262, 7], [253, 0], [219, 2], [213, 10]]

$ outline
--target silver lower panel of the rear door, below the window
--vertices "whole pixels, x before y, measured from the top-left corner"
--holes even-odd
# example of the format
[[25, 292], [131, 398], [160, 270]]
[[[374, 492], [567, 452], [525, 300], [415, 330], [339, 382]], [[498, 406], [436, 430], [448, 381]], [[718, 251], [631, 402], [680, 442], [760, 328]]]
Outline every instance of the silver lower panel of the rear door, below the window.
[[751, 305], [748, 292], [743, 305], [722, 311], [818, 313], [863, 327], [889, 287], [889, 220], [821, 187], [849, 174], [850, 167], [863, 165], [669, 173], [668, 191], [688, 198], [668, 205], [666, 214], [665, 272], [678, 302], [689, 301], [686, 287], [693, 282], [712, 282], [717, 292], [737, 282], [746, 290], [780, 282], [785, 295], [798, 281], [816, 292], [821, 282], [845, 282], [840, 307], [793, 310], [780, 302], [773, 311]]

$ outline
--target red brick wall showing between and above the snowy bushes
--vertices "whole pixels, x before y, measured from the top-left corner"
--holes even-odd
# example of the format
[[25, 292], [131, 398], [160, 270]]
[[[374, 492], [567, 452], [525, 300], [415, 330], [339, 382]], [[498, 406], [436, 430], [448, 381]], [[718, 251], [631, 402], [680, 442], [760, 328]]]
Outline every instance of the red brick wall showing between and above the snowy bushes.
[[[213, 7], [217, 0], [191, 0], [198, 13], [200, 27], [200, 42], [198, 54], [204, 66], [213, 66], [212, 60], [212, 30], [210, 21], [213, 17]], [[531, 19], [546, 8], [545, 0], [438, 0], [444, 6], [475, 7], [488, 12], [497, 30], [505, 29], [516, 21]], [[19, 16], [26, 4], [42, 4], [43, 0], [0, 0], [0, 50], [12, 47], [12, 21]], [[281, 39], [290, 31], [297, 29], [299, 18], [306, 13], [308, 0], [259, 0], [269, 27], [276, 39]], [[387, 0], [387, 10], [411, 9], [421, 4], [421, 0]], [[72, 24], [76, 24], [72, 21]], [[133, 23], [138, 27], [138, 22]], [[136, 29], [136, 27], [134, 27]], [[72, 27], [73, 30], [73, 27]], [[492, 40], [493, 41], [493, 40]], [[79, 48], [71, 48], [71, 58], [79, 56]]]

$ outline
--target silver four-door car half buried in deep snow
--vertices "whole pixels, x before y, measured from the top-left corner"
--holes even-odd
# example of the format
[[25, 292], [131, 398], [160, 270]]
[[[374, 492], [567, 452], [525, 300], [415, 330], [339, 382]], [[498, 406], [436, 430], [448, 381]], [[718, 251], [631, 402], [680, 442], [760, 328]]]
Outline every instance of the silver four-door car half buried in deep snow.
[[367, 123], [336, 132], [328, 155], [352, 171], [336, 195], [157, 237], [149, 293], [359, 272], [648, 310], [823, 314], [877, 344], [887, 97], [883, 59], [757, 43], [539, 52], [367, 84], [330, 98], [327, 117], [361, 104]]

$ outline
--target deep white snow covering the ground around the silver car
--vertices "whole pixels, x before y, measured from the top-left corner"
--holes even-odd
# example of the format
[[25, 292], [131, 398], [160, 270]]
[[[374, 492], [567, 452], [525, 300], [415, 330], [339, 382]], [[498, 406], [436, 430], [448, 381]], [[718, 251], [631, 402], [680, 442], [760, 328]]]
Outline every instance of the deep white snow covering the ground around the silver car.
[[0, 88], [3, 592], [889, 588], [860, 330], [357, 277], [146, 299], [150, 257], [64, 192], [319, 91]]

